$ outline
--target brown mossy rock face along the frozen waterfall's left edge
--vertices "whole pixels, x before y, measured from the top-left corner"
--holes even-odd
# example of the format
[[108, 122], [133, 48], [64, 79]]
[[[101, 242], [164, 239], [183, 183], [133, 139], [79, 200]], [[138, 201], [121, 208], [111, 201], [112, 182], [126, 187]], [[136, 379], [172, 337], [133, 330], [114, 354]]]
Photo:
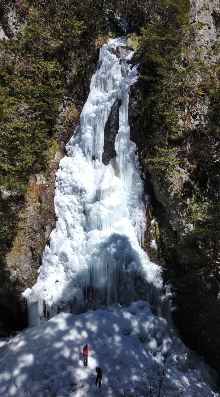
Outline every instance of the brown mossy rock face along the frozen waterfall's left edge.
[[55, 173], [78, 123], [75, 101], [66, 96], [59, 107], [54, 144], [49, 149], [52, 159], [45, 172], [30, 178], [25, 205], [19, 213], [18, 232], [11, 252], [6, 255], [6, 269], [11, 279], [19, 280], [22, 291], [36, 282], [44, 247], [55, 227]]

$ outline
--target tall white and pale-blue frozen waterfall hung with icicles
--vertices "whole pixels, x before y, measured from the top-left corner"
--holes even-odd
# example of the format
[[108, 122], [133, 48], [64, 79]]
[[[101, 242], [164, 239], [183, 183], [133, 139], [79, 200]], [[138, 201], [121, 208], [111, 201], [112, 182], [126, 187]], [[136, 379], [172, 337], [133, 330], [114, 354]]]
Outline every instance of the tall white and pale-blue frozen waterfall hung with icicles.
[[80, 125], [56, 174], [56, 229], [36, 284], [23, 293], [29, 326], [61, 311], [138, 299], [157, 313], [163, 307], [161, 270], [140, 247], [145, 199], [129, 136], [129, 91], [138, 78], [131, 57], [124, 39], [110, 39], [100, 50]]

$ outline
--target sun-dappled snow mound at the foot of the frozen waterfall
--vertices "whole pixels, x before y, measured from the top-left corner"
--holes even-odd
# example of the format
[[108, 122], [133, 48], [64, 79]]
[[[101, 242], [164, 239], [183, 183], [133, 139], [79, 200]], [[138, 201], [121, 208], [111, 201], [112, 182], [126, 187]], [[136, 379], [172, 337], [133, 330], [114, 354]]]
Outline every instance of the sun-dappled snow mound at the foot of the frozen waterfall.
[[[82, 358], [85, 343], [88, 367]], [[205, 384], [212, 383], [207, 365], [145, 301], [79, 315], [60, 313], [42, 326], [1, 340], [0, 346], [1, 397], [117, 397], [119, 382], [126, 389], [127, 380], [137, 388], [134, 396], [139, 391], [147, 396], [151, 376], [153, 396], [218, 396]], [[96, 366], [103, 370], [100, 388], [95, 386]]]

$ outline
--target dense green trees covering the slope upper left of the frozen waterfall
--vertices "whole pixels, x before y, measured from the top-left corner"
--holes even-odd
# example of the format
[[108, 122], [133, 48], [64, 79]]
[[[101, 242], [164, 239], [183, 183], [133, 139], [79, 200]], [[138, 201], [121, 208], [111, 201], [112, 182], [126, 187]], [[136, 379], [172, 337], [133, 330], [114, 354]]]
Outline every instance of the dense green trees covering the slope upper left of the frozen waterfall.
[[12, 189], [46, 166], [60, 100], [85, 67], [103, 15], [92, 0], [16, 7], [26, 23], [15, 37], [0, 40], [0, 173]]

